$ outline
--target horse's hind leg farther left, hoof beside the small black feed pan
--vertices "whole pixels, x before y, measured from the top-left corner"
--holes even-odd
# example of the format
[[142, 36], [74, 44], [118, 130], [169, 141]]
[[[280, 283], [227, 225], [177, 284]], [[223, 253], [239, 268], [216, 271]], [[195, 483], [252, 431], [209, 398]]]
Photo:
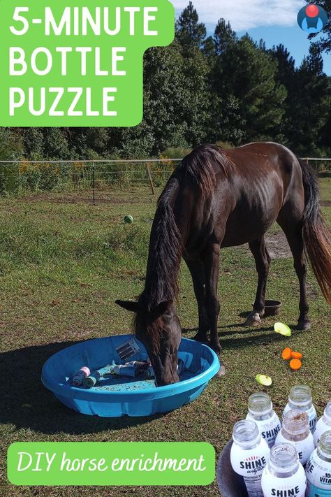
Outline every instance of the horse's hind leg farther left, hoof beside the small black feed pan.
[[245, 326], [258, 326], [265, 311], [265, 287], [267, 286], [271, 258], [265, 246], [264, 236], [250, 242], [249, 248], [255, 259], [256, 271], [258, 271], [258, 289], [256, 291], [253, 311], [247, 317]]

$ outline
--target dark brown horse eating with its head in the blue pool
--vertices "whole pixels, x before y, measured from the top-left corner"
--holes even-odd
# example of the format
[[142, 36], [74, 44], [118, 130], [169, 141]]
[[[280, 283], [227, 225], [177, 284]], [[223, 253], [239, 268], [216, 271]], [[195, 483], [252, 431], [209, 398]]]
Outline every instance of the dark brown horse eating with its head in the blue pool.
[[177, 351], [182, 333], [174, 305], [182, 257], [198, 301], [195, 338], [207, 342], [210, 331], [210, 345], [219, 354], [220, 249], [249, 243], [258, 289], [247, 324], [258, 324], [270, 265], [264, 236], [275, 221], [284, 230], [300, 282], [298, 327], [309, 329], [304, 252], [331, 302], [330, 231], [309, 165], [277, 143], [251, 143], [230, 150], [201, 145], [172, 174], [152, 226], [145, 289], [138, 302], [117, 301], [136, 312], [135, 334], [149, 353], [158, 386], [179, 381]]

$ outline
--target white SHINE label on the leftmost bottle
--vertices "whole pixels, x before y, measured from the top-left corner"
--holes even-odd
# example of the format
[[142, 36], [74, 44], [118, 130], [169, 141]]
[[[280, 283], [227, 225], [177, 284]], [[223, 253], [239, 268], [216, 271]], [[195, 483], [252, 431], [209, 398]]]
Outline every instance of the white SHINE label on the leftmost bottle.
[[249, 497], [263, 497], [261, 477], [269, 460], [269, 453], [270, 449], [263, 439], [253, 449], [245, 450], [235, 443], [231, 447], [231, 466], [235, 473], [244, 477]]

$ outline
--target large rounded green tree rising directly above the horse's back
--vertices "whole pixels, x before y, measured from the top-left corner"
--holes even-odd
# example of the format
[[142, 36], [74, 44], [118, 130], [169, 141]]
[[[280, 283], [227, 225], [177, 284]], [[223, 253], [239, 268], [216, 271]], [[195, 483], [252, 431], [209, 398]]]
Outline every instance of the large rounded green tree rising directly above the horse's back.
[[232, 97], [239, 102], [240, 134], [245, 141], [277, 135], [286, 89], [277, 81], [277, 62], [248, 35], [230, 43], [219, 57], [214, 88], [223, 101]]

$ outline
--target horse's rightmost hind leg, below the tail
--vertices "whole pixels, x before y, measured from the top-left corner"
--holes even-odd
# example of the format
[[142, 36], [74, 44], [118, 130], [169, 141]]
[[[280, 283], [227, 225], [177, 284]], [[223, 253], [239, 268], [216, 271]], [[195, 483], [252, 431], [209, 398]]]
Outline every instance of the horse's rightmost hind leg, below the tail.
[[288, 240], [288, 245], [290, 245], [290, 250], [293, 254], [294, 268], [297, 273], [297, 278], [300, 284], [300, 316], [297, 322], [298, 329], [309, 330], [310, 322], [308, 317], [309, 305], [307, 301], [307, 287], [306, 287], [306, 277], [307, 277], [307, 259], [304, 255], [304, 241], [302, 235], [302, 222], [300, 220], [288, 221], [286, 217], [282, 219], [277, 219], [279, 226], [283, 229], [286, 238]]

